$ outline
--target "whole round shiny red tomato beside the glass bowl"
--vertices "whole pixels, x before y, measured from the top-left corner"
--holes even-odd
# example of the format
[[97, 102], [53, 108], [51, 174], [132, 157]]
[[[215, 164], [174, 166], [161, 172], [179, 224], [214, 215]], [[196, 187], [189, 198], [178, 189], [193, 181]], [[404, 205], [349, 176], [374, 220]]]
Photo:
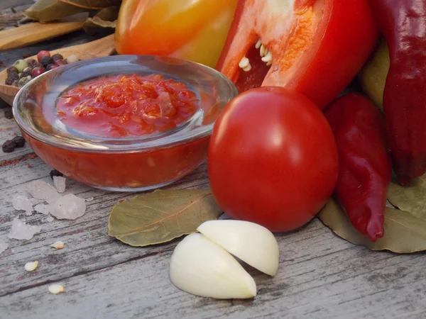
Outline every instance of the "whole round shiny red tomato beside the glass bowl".
[[273, 232], [294, 230], [332, 195], [337, 146], [314, 103], [263, 86], [237, 96], [214, 123], [208, 171], [212, 194], [227, 215]]

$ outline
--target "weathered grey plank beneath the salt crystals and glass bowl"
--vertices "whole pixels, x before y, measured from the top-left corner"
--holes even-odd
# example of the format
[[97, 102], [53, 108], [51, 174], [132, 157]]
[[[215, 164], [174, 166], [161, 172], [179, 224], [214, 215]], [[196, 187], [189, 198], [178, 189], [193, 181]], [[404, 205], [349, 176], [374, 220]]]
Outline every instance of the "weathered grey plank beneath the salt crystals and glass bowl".
[[[30, 165], [31, 167], [28, 167]], [[134, 250], [107, 235], [108, 216], [112, 206], [120, 199], [135, 194], [108, 193], [91, 189], [74, 181], [68, 181], [65, 194], [72, 193], [83, 198], [94, 197], [87, 202], [87, 213], [77, 220], [45, 221], [45, 216], [36, 213], [25, 216], [11, 206], [11, 198], [26, 193], [26, 184], [33, 179], [44, 178], [50, 181], [51, 167], [40, 158], [27, 159], [16, 164], [0, 167], [0, 237], [9, 233], [13, 218], [25, 218], [31, 225], [42, 225], [43, 230], [32, 240], [9, 240], [9, 249], [0, 254], [0, 296], [32, 284], [61, 279], [75, 273], [92, 271], [102, 267], [111, 267], [127, 259], [143, 256], [162, 247], [150, 247]], [[206, 165], [202, 165], [192, 174], [170, 188], [206, 188], [208, 186]], [[43, 201], [33, 200], [33, 203]], [[67, 242], [67, 248], [55, 252], [50, 245], [55, 240]], [[58, 273], [55, 265], [60, 254], [65, 259], [63, 272]], [[23, 277], [23, 265], [31, 260], [39, 260], [48, 265], [45, 272], [37, 272], [31, 277]]]

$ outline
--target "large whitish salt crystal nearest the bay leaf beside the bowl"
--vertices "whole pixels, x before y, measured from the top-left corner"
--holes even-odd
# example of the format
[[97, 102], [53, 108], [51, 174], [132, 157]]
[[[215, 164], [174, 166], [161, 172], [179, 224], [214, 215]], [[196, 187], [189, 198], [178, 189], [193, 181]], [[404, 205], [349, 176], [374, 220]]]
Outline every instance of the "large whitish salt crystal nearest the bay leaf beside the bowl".
[[50, 213], [58, 219], [76, 219], [86, 212], [84, 198], [74, 194], [62, 196], [52, 204]]

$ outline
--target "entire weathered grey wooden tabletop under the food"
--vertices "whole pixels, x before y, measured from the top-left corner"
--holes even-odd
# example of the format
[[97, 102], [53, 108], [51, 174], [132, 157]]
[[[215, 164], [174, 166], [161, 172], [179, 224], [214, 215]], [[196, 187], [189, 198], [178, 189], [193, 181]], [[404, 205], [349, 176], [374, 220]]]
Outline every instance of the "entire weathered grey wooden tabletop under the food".
[[[93, 38], [72, 33], [0, 52], [0, 61], [10, 65], [22, 55], [88, 40]], [[2, 143], [19, 131], [4, 118], [4, 103], [0, 107]], [[66, 193], [94, 197], [82, 218], [48, 223], [39, 213], [28, 217], [15, 211], [11, 198], [29, 181], [50, 179], [52, 168], [28, 154], [29, 147], [9, 154], [0, 150], [0, 162], [18, 159], [0, 167], [0, 238], [6, 238], [16, 216], [42, 226], [31, 240], [8, 240], [8, 250], [0, 254], [0, 318], [426, 318], [424, 253], [371, 252], [335, 236], [316, 218], [276, 236], [280, 269], [273, 278], [250, 271], [258, 284], [254, 300], [218, 301], [182, 292], [168, 278], [177, 241], [135, 248], [107, 235], [112, 206], [134, 194], [68, 180]], [[204, 164], [170, 188], [208, 186]], [[50, 247], [57, 240], [66, 243], [63, 250]], [[33, 260], [40, 262], [38, 269], [26, 272], [23, 266]], [[65, 286], [66, 293], [50, 294], [52, 283]]]

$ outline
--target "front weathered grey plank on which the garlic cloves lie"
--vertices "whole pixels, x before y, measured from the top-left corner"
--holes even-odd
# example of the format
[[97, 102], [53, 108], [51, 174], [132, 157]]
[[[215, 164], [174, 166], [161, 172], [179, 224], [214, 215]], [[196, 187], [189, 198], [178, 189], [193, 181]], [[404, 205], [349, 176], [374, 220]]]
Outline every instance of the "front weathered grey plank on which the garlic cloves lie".
[[[64, 279], [62, 295], [43, 284], [4, 296], [0, 310], [6, 318], [424, 318], [424, 254], [372, 253], [318, 220], [278, 241], [277, 276], [250, 270], [258, 284], [253, 302], [179, 291], [168, 279], [173, 245], [166, 245], [161, 254]], [[58, 259], [57, 272], [66, 271], [65, 262]]]

